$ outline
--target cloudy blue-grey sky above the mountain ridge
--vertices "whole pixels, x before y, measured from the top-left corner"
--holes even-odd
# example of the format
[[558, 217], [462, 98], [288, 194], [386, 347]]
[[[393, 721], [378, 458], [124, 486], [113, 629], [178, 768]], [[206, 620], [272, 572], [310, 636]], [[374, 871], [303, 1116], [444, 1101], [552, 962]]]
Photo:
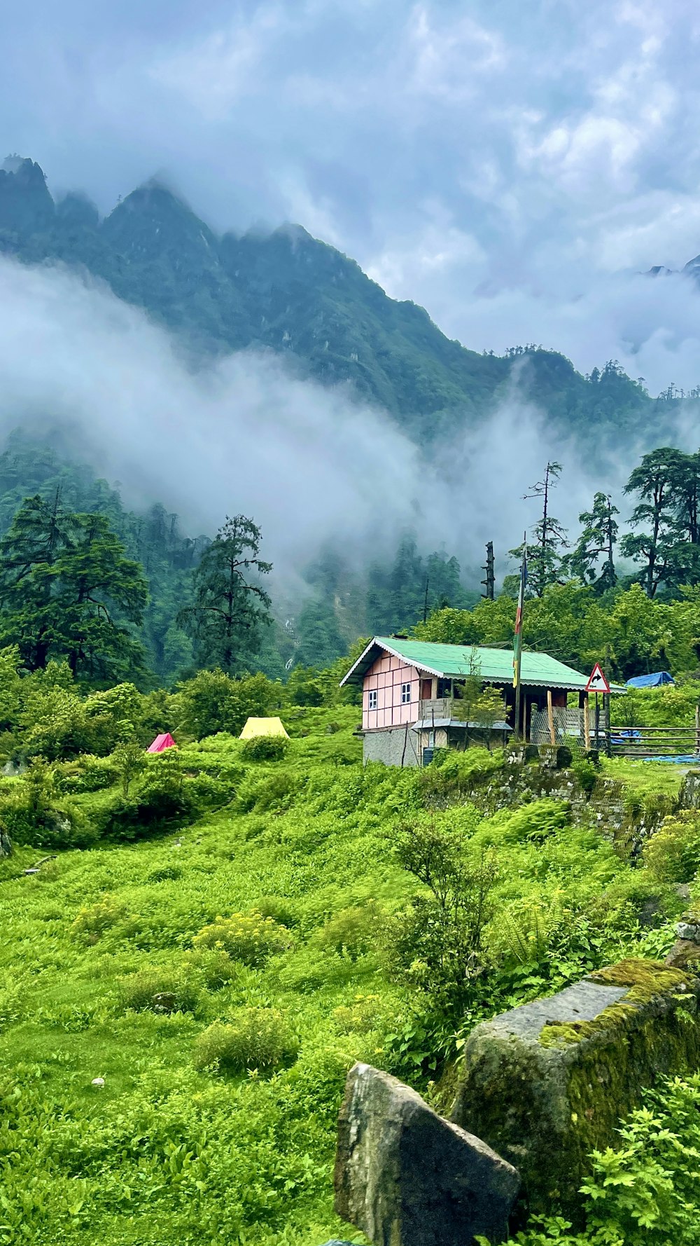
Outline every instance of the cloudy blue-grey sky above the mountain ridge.
[[[700, 381], [693, 0], [26, 0], [0, 132], [102, 211], [154, 172], [291, 219], [476, 349]], [[664, 285], [664, 289], [661, 289]]]

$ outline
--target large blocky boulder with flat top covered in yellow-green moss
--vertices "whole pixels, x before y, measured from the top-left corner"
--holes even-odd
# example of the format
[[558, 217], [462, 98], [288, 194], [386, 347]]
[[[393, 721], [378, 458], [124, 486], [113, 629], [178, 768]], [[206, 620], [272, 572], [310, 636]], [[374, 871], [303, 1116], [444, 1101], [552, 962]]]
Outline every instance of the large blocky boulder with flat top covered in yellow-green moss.
[[623, 961], [477, 1025], [452, 1120], [522, 1175], [531, 1211], [577, 1217], [589, 1154], [663, 1074], [700, 1068], [700, 979]]

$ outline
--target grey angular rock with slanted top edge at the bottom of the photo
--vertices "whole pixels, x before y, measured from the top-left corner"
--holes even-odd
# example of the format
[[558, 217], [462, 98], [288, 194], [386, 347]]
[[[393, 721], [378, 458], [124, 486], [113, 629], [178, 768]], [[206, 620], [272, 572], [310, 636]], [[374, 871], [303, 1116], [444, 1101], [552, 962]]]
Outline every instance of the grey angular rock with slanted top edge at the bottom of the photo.
[[335, 1210], [374, 1246], [472, 1246], [507, 1236], [511, 1164], [396, 1078], [355, 1064], [340, 1110]]

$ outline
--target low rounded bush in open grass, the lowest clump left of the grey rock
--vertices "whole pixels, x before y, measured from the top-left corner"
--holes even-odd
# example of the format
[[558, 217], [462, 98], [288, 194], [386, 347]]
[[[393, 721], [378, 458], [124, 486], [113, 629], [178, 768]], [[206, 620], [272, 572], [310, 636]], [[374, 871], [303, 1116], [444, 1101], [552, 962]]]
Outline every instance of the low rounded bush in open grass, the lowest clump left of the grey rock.
[[299, 1050], [284, 1013], [277, 1008], [242, 1008], [225, 1024], [217, 1020], [194, 1044], [194, 1067], [222, 1073], [272, 1070], [290, 1063]]

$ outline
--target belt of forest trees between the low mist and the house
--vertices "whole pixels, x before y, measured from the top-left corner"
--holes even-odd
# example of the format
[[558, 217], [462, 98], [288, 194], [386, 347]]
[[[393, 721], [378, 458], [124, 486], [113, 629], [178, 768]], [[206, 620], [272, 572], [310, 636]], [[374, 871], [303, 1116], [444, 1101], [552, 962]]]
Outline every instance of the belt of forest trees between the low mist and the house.
[[[541, 481], [523, 482], [541, 508], [527, 536], [526, 645], [580, 669], [608, 645], [620, 680], [694, 675], [700, 455], [644, 455], [624, 496], [597, 492], [573, 533], [556, 516], [560, 472], [548, 462]], [[415, 533], [364, 567], [329, 547], [304, 568], [308, 591], [291, 614], [264, 552], [254, 518], [187, 536], [161, 503], [125, 508], [65, 451], [17, 432], [0, 455], [0, 640], [27, 673], [65, 662], [82, 690], [122, 679], [172, 687], [213, 668], [310, 687], [361, 635], [512, 643], [518, 576], [467, 586], [457, 554], [422, 551]], [[509, 553], [517, 567], [522, 543]]]

